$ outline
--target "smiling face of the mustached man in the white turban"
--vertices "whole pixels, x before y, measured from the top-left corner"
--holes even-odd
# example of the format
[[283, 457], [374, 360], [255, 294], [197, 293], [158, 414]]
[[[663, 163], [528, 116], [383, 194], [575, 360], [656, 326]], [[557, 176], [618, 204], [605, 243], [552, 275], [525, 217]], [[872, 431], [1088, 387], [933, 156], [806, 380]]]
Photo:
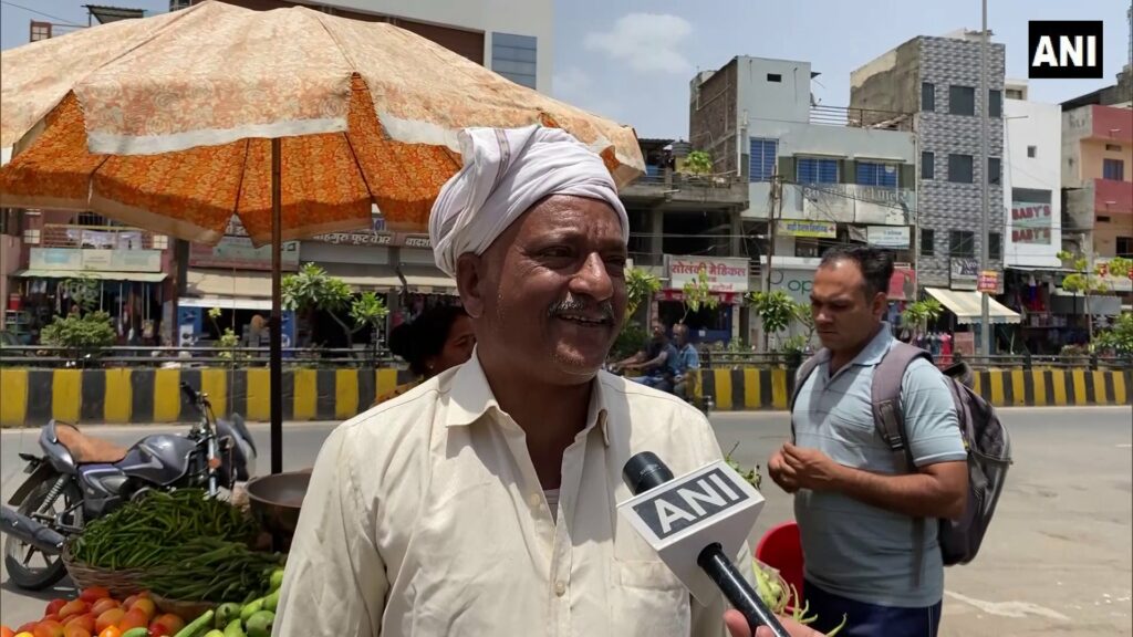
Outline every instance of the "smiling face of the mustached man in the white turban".
[[480, 356], [552, 384], [593, 379], [625, 315], [625, 257], [608, 204], [555, 195], [533, 206], [475, 266], [461, 257]]

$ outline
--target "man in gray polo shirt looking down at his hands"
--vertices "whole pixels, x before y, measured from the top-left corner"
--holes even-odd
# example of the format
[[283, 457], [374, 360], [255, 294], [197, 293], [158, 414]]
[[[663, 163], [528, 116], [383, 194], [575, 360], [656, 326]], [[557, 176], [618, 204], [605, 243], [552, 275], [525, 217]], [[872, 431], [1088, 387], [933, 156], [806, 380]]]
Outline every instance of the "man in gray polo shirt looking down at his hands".
[[[821, 631], [846, 615], [847, 637], [935, 636], [944, 567], [936, 524], [957, 518], [968, 495], [966, 453], [951, 391], [928, 360], [909, 365], [901, 405], [915, 470], [896, 466], [877, 433], [871, 381], [894, 343], [881, 321], [893, 274], [887, 253], [852, 246], [827, 252], [815, 273], [811, 313], [824, 349], [801, 383], [794, 442], [768, 462], [794, 494], [806, 558], [803, 598]], [[921, 559], [918, 559], [920, 555]]]

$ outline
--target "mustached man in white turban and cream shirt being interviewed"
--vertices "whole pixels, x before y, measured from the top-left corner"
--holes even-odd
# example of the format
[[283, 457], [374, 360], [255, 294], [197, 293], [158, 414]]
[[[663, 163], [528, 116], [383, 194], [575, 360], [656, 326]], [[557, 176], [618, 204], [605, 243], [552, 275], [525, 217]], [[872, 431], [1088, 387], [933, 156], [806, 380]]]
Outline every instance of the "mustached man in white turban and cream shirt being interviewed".
[[[723, 597], [693, 601], [615, 510], [632, 455], [680, 475], [722, 453], [700, 411], [599, 371], [627, 304], [610, 172], [557, 129], [460, 145], [429, 236], [476, 349], [330, 435], [275, 636], [722, 637]], [[747, 546], [736, 564], [753, 579]]]

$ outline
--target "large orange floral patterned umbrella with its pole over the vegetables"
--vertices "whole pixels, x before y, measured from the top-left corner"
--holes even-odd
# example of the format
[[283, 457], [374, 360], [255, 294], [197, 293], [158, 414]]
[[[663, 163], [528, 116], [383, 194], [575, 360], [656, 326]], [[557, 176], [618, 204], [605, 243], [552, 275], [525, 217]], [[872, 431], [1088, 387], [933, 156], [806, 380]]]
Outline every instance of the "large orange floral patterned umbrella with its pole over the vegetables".
[[[0, 206], [92, 210], [215, 244], [233, 214], [274, 247], [271, 382], [282, 387], [283, 240], [425, 231], [470, 126], [561, 127], [623, 186], [633, 130], [390, 24], [207, 1], [0, 53]], [[271, 394], [272, 473], [282, 392]]]

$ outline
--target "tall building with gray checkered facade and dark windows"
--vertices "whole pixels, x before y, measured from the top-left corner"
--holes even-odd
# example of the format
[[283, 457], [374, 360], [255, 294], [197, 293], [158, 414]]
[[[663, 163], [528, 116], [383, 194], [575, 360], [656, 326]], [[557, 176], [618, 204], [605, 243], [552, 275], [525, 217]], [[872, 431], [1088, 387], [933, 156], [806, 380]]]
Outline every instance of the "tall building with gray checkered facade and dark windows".
[[[990, 37], [990, 33], [988, 34]], [[988, 43], [987, 94], [979, 91], [981, 33], [918, 36], [851, 74], [851, 108], [912, 111], [898, 127], [911, 130], [920, 153], [917, 186], [917, 277], [939, 299], [949, 325], [980, 323], [976, 292], [983, 243], [988, 270], [1003, 271], [1002, 212], [1004, 153], [1003, 44]], [[988, 159], [982, 161], [981, 125], [988, 124]], [[982, 187], [988, 185], [988, 236], [982, 236]], [[1003, 292], [1003, 278], [997, 292]], [[1017, 323], [1017, 313], [990, 300], [993, 325]], [[955, 331], [959, 331], [957, 328]], [[973, 353], [976, 330], [957, 333], [957, 347]], [[999, 334], [1002, 336], [1002, 334]], [[993, 338], [995, 347], [998, 340]]]

